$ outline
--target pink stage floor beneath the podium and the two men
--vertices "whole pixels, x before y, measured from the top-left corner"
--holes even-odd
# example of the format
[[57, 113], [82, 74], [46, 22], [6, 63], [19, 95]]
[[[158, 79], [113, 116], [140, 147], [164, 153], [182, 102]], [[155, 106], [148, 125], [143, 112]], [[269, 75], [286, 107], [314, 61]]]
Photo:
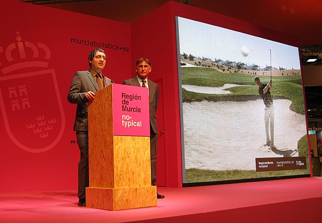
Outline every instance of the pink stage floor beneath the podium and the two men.
[[157, 206], [77, 206], [76, 190], [0, 192], [0, 222], [322, 222], [322, 177], [159, 187]]

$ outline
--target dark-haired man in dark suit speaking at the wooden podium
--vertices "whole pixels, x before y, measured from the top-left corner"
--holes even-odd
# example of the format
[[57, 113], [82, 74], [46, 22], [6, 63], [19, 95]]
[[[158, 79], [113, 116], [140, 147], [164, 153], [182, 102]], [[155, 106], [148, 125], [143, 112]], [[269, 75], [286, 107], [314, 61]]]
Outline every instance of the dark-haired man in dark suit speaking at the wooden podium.
[[95, 92], [113, 81], [102, 74], [106, 64], [106, 55], [102, 49], [96, 49], [89, 55], [90, 69], [77, 71], [71, 81], [67, 99], [77, 104], [74, 131], [81, 160], [78, 163], [78, 206], [86, 206], [85, 188], [89, 186], [89, 139], [88, 104], [95, 98]]

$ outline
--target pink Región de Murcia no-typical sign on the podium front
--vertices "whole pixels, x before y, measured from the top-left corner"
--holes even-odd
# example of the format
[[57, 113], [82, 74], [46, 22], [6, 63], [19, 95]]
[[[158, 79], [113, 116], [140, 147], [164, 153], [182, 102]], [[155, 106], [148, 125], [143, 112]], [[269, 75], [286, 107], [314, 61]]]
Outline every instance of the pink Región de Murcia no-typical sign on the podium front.
[[113, 134], [150, 136], [147, 88], [113, 84]]

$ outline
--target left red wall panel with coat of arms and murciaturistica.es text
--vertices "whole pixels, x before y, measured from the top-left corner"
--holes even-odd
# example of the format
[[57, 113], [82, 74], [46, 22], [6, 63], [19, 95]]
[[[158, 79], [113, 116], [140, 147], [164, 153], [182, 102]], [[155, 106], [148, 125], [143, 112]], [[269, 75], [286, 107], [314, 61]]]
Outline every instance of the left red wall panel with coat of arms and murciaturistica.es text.
[[107, 53], [105, 76], [126, 79], [130, 25], [18, 1], [0, 8], [0, 189], [77, 188], [69, 86], [96, 48]]

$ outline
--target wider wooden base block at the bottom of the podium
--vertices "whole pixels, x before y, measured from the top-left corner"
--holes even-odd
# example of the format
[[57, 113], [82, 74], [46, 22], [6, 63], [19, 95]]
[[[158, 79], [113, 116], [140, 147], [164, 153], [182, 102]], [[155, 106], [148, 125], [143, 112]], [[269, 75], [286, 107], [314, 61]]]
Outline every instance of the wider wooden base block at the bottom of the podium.
[[86, 206], [105, 210], [156, 206], [156, 186], [127, 188], [86, 187]]

